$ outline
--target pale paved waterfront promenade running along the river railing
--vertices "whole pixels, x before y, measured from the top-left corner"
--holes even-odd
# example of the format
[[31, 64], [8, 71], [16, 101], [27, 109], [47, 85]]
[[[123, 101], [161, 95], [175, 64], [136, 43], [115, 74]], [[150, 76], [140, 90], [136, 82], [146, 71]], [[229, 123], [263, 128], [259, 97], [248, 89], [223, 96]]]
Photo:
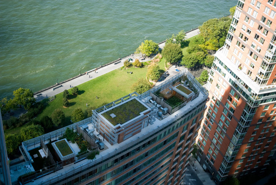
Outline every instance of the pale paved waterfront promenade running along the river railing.
[[[199, 34], [199, 29], [188, 31], [188, 32], [186, 32], [186, 39], [189, 39], [189, 38], [191, 38], [195, 35], [198, 35], [198, 34]], [[164, 46], [165, 46], [165, 42], [160, 43], [158, 46], [159, 46], [159, 49], [163, 49]], [[95, 70], [96, 68], [92, 69], [92, 70], [89, 70], [89, 71], [87, 71], [87, 75], [82, 74], [82, 75], [79, 75], [78, 77], [72, 78], [71, 80], [67, 80], [63, 83], [58, 83], [57, 85], [52, 86], [51, 88], [46, 88], [45, 90], [38, 91], [38, 93], [34, 94], [34, 98], [37, 101], [41, 101], [44, 98], [54, 96], [56, 94], [59, 94], [59, 93], [63, 92], [65, 89], [70, 89], [74, 86], [80, 85], [80, 84], [85, 83], [89, 80], [97, 78], [101, 75], [109, 73], [112, 70], [115, 70], [115, 69], [118, 69], [118, 68], [122, 67], [124, 65], [124, 61], [128, 58], [134, 58], [134, 60], [135, 60], [135, 58], [139, 59], [140, 57], [141, 56], [138, 55], [138, 54], [134, 54], [133, 56], [129, 55], [129, 56], [126, 56], [124, 58], [121, 58], [120, 60], [118, 60], [114, 63], [111, 63], [111, 64], [103, 66], [103, 67], [99, 67], [99, 68], [97, 68], [97, 70]], [[147, 61], [147, 60], [143, 60], [143, 62], [145, 62], [145, 61]], [[181, 69], [183, 69], [183, 67], [181, 67], [180, 70]], [[96, 73], [95, 73], [95, 71], [96, 71]], [[173, 75], [175, 75], [178, 72], [175, 71], [175, 67], [172, 66], [169, 69], [169, 73], [170, 73], [170, 75], [168, 77], [166, 77], [166, 79], [169, 79], [170, 77], [172, 77]], [[90, 76], [90, 78], [89, 78], [89, 76]], [[71, 85], [71, 87], [70, 87], [70, 85]], [[56, 88], [56, 87], [58, 87], [58, 88]]]

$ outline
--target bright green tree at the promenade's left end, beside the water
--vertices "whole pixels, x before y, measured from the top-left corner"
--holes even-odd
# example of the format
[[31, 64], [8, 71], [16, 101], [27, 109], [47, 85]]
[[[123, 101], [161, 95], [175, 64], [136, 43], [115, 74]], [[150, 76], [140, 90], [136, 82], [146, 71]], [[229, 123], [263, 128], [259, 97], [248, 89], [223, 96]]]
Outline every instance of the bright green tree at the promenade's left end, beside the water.
[[35, 102], [34, 94], [30, 89], [19, 88], [13, 91], [14, 98], [12, 99], [14, 104], [24, 106], [28, 110]]

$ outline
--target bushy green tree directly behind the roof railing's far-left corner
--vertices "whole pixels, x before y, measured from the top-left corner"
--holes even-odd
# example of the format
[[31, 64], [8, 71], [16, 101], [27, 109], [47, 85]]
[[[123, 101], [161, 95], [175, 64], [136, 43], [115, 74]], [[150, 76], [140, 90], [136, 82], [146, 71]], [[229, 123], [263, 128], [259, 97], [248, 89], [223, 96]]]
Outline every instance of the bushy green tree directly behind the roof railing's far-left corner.
[[29, 125], [27, 127], [22, 127], [20, 130], [20, 136], [22, 141], [27, 141], [32, 138], [36, 138], [44, 134], [44, 129], [41, 125]]

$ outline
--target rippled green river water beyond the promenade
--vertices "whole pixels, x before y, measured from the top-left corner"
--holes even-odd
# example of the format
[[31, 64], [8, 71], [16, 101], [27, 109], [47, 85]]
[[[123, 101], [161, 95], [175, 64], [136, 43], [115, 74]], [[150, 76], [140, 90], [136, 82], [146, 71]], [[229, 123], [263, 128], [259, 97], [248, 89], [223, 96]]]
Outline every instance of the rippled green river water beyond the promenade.
[[161, 42], [237, 0], [2, 0], [0, 98], [19, 87], [33, 92]]

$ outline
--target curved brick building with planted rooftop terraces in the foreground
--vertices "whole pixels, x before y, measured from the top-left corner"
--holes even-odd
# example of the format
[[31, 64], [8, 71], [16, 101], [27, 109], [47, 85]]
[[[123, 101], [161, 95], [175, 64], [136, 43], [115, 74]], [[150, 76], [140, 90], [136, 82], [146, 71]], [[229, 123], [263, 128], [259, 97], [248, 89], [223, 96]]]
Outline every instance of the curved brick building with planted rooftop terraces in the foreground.
[[[206, 90], [183, 70], [141, 95], [134, 92], [93, 110], [92, 117], [22, 142], [26, 162], [18, 174], [23, 175], [14, 173], [12, 181], [181, 184], [207, 98]], [[81, 142], [66, 138], [70, 130]], [[82, 143], [89, 147], [80, 153]], [[69, 152], [64, 153], [66, 147]]]

